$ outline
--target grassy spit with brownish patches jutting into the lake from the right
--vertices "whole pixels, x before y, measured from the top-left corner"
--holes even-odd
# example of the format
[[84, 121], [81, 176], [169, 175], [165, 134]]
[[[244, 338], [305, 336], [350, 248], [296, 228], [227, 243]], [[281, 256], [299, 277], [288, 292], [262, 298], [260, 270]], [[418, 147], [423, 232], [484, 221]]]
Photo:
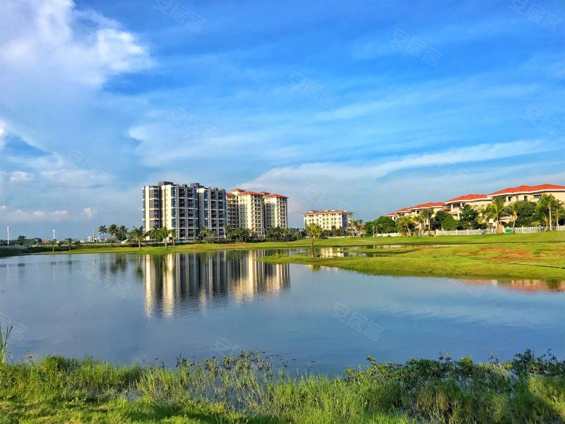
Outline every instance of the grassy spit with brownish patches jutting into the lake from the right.
[[565, 243], [469, 244], [400, 249], [357, 249], [369, 257], [313, 257], [278, 254], [270, 263], [329, 266], [398, 276], [523, 278], [565, 281]]

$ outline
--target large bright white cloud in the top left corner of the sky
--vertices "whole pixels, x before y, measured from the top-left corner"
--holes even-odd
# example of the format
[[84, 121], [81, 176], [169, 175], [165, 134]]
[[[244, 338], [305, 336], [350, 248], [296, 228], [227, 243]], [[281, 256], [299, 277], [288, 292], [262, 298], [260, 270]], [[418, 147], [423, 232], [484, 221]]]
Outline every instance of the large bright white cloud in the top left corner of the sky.
[[109, 76], [152, 64], [135, 35], [117, 30], [112, 20], [77, 12], [72, 1], [8, 0], [2, 9], [0, 64], [8, 78], [25, 70], [20, 74], [24, 81], [40, 72], [37, 83], [100, 86]]

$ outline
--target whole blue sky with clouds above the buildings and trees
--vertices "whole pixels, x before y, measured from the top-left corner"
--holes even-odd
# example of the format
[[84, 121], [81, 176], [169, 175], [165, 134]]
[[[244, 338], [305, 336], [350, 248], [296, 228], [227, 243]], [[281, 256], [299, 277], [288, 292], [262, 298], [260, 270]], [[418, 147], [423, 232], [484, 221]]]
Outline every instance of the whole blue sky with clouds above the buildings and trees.
[[0, 1], [11, 235], [141, 225], [162, 179], [292, 226], [565, 184], [561, 1]]

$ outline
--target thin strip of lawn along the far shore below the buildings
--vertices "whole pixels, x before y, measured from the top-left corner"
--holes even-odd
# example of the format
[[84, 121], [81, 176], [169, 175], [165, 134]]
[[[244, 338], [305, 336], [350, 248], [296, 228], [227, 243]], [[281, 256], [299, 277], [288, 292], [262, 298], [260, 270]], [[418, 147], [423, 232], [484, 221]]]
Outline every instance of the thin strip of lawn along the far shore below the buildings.
[[[446, 235], [439, 237], [343, 237], [316, 240], [315, 247], [352, 247], [374, 245], [476, 245], [476, 244], [514, 244], [514, 243], [565, 243], [565, 231], [535, 232], [533, 234], [492, 234], [492, 235]], [[311, 240], [295, 242], [258, 242], [258, 243], [222, 243], [222, 244], [191, 244], [177, 245], [174, 252], [208, 252], [214, 250], [249, 250], [249, 249], [295, 249], [310, 247]], [[1, 249], [0, 257], [17, 256], [21, 254], [52, 254], [52, 247], [32, 247], [30, 249]], [[80, 247], [71, 250], [57, 247], [54, 254], [87, 254], [87, 253], [131, 253], [131, 254], [167, 254], [173, 252], [162, 246], [114, 246], [114, 247]]]

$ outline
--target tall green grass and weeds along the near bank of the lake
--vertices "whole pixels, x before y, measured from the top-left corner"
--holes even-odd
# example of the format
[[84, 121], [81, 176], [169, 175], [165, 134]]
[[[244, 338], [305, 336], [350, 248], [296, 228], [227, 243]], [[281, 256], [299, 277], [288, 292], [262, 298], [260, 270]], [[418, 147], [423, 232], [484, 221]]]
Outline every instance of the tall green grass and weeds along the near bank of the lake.
[[254, 353], [176, 369], [45, 358], [0, 364], [3, 423], [559, 423], [565, 361], [409, 360], [289, 377]]

